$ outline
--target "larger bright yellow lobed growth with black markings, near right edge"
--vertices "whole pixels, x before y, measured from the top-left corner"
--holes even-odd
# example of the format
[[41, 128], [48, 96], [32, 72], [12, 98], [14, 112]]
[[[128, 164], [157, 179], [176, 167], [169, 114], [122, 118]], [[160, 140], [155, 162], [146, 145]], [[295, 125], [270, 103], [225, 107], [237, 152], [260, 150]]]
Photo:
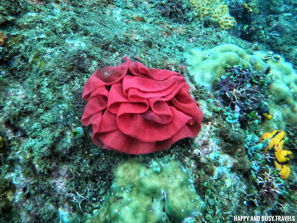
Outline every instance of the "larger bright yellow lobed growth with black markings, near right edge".
[[264, 142], [266, 139], [269, 139], [268, 146], [264, 148], [264, 151], [267, 152], [272, 149], [274, 152], [274, 165], [279, 169], [280, 178], [283, 180], [287, 179], [290, 175], [291, 151], [282, 149], [286, 136], [284, 131], [274, 129], [272, 132], [263, 133], [259, 138], [259, 142]]

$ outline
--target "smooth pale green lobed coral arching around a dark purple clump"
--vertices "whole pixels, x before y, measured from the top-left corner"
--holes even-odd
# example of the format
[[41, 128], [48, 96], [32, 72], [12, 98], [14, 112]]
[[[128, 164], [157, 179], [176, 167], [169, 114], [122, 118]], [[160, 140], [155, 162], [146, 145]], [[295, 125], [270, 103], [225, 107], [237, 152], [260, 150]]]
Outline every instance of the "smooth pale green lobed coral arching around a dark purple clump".
[[292, 64], [272, 52], [263, 53], [252, 51], [252, 55], [233, 44], [224, 44], [217, 47], [201, 50], [193, 48], [185, 56], [189, 64], [190, 76], [198, 84], [213, 87], [219, 77], [225, 75], [226, 66], [239, 63], [247, 65], [256, 71], [265, 71], [271, 67], [268, 77], [273, 83], [269, 85], [271, 100], [268, 103], [272, 112], [271, 120], [263, 120], [261, 131], [270, 132], [275, 128], [285, 129], [287, 124], [297, 123], [297, 74]]

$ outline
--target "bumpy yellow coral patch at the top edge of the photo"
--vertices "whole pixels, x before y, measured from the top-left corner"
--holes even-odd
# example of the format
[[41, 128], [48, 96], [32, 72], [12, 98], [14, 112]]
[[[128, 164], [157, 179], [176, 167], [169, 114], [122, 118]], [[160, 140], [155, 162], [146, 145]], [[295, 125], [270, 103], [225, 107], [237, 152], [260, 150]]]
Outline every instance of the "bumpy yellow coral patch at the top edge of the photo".
[[219, 22], [221, 29], [229, 30], [236, 26], [224, 0], [190, 0], [193, 16], [198, 20], [211, 17]]

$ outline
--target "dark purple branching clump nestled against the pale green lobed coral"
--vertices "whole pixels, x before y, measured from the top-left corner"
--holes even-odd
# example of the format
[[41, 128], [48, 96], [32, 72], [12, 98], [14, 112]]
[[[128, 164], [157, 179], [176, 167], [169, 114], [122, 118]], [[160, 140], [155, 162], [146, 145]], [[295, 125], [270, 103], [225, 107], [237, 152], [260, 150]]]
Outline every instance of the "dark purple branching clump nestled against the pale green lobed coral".
[[269, 109], [266, 111], [264, 108], [267, 106], [263, 105], [268, 98], [268, 84], [271, 82], [266, 76], [266, 73], [251, 71], [245, 65], [227, 65], [226, 74], [215, 83], [224, 103], [240, 114], [240, 121], [246, 120], [256, 110], [261, 110], [260, 114], [267, 120], [272, 118], [268, 119]]

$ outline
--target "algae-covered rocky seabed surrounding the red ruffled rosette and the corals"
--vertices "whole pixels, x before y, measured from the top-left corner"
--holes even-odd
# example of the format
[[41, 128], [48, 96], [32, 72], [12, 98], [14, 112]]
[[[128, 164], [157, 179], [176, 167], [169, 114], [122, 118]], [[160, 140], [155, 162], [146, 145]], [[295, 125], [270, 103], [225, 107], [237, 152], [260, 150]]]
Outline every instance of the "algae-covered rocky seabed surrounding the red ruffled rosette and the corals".
[[[245, 120], [230, 121], [234, 107], [226, 98], [181, 69], [190, 49], [223, 44], [273, 51], [295, 69], [297, 2], [259, 0], [257, 14], [244, 7], [252, 2], [226, 1], [237, 26], [223, 30], [209, 18], [192, 18], [183, 0], [2, 0], [0, 222], [84, 222], [108, 200], [113, 169], [131, 159], [144, 165], [175, 160], [191, 171], [206, 210], [184, 222], [296, 215], [296, 122], [281, 129], [293, 154], [290, 176], [282, 180], [265, 145], [257, 146], [263, 117], [256, 109]], [[91, 127], [80, 121], [83, 87], [97, 67], [119, 65], [125, 55], [187, 77], [204, 114], [195, 138], [137, 156], [93, 144]], [[260, 95], [271, 99], [265, 87]], [[177, 221], [164, 214], [155, 222]]]

